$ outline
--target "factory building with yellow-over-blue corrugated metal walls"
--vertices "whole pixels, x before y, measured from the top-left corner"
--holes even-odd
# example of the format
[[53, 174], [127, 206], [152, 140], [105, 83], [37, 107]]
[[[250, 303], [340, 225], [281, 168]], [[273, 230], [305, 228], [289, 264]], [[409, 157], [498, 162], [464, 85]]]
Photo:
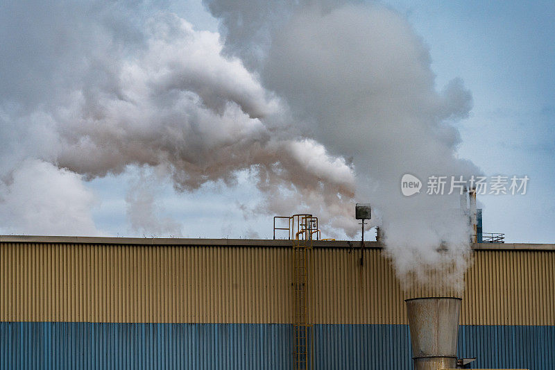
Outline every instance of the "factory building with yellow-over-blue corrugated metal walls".
[[[293, 369], [294, 243], [1, 236], [0, 369]], [[305, 257], [313, 369], [413, 369], [404, 300], [457, 294], [377, 242]], [[467, 366], [555, 369], [555, 244], [473, 244], [460, 298]]]

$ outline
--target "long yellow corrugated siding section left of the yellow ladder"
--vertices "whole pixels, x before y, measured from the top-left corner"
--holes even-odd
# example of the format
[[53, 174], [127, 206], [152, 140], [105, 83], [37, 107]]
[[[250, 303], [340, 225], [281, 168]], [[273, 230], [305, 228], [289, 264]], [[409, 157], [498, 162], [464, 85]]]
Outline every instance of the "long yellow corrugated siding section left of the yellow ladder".
[[6, 243], [1, 269], [1, 321], [289, 321], [289, 249]]

